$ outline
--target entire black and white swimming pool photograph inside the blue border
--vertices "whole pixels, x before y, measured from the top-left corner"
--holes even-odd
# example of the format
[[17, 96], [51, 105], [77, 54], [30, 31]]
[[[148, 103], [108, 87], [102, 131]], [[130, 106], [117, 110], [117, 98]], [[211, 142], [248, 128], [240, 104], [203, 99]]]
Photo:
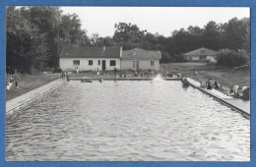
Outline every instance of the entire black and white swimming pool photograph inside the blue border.
[[250, 31], [248, 7], [8, 6], [6, 161], [250, 161]]

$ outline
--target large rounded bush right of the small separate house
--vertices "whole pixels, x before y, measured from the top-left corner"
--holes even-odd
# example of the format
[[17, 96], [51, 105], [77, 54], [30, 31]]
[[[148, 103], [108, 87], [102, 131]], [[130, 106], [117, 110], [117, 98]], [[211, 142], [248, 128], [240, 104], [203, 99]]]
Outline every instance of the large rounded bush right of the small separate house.
[[245, 50], [224, 49], [216, 57], [217, 65], [225, 67], [241, 66], [249, 61], [249, 55]]

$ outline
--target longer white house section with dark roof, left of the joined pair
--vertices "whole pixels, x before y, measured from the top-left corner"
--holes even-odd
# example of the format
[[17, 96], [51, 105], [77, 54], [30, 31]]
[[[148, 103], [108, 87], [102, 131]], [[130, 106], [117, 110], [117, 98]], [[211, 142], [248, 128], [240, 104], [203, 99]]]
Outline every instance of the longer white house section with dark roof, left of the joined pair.
[[120, 70], [122, 47], [65, 47], [59, 56], [62, 70]]

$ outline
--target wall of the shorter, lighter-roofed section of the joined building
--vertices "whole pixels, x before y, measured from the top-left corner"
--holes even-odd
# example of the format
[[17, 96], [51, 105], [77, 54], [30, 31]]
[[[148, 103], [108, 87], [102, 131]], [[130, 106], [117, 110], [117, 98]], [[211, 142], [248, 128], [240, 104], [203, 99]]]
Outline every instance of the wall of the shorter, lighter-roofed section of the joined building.
[[133, 61], [139, 61], [139, 68], [142, 70], [160, 70], [160, 60], [154, 60], [154, 66], [151, 66], [152, 60], [121, 60], [121, 70], [136, 70], [133, 68]]

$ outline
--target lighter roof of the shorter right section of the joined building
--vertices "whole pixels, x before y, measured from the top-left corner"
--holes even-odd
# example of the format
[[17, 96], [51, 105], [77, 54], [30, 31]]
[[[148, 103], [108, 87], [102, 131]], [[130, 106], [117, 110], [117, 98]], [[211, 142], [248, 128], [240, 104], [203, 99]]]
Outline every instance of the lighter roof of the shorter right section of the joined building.
[[145, 60], [145, 59], [160, 59], [160, 51], [159, 50], [144, 50], [141, 48], [134, 48], [131, 50], [123, 50], [121, 59], [138, 59], [138, 60]]

